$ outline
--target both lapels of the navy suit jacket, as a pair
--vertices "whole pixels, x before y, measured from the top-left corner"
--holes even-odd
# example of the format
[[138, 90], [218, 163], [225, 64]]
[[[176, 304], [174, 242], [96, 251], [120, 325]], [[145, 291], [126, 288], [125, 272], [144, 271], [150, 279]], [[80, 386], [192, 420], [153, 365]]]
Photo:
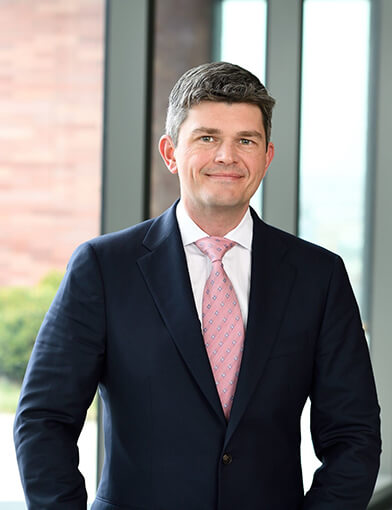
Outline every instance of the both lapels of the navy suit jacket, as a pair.
[[[225, 445], [229, 442], [261, 379], [295, 279], [286, 244], [253, 215], [252, 273], [248, 324], [241, 370]], [[138, 260], [151, 295], [189, 372], [222, 424], [226, 424], [204, 347], [175, 205], [153, 221]]]

